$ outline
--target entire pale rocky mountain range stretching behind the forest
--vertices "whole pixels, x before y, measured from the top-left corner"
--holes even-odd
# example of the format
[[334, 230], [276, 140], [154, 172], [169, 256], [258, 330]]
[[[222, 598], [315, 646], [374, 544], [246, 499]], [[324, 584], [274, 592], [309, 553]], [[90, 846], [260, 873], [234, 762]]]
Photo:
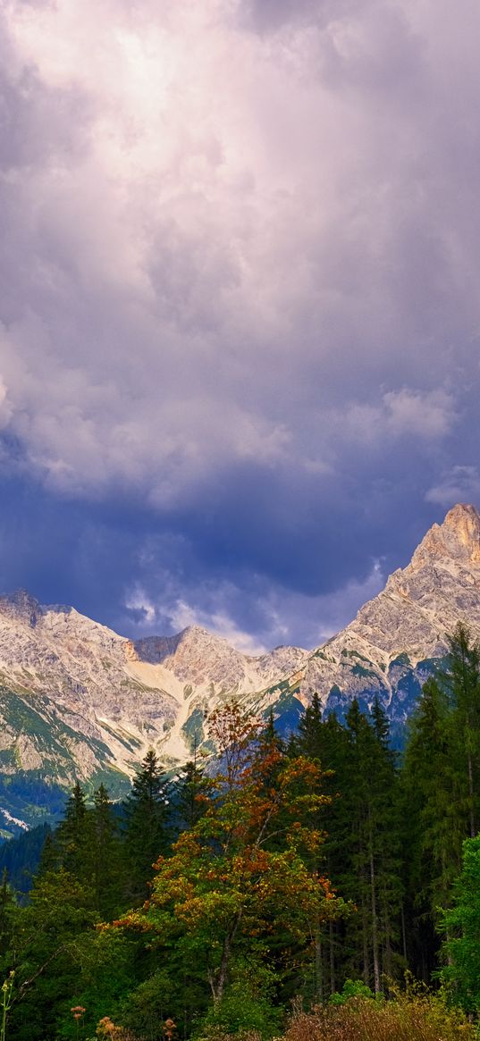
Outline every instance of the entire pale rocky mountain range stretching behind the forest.
[[235, 696], [295, 728], [318, 690], [343, 714], [377, 694], [399, 731], [458, 619], [480, 637], [480, 514], [457, 505], [411, 562], [331, 640], [250, 657], [198, 626], [132, 642], [72, 607], [23, 590], [0, 598], [0, 835], [55, 815], [79, 778], [120, 796], [155, 747], [166, 766], [205, 739], [205, 715]]

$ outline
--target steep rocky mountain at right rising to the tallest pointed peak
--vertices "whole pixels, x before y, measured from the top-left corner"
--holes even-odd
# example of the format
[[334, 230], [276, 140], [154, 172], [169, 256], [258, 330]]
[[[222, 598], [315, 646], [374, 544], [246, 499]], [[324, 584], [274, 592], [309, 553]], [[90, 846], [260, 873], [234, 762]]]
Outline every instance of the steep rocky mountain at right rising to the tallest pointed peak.
[[318, 690], [327, 711], [342, 712], [352, 696], [370, 706], [377, 694], [398, 730], [459, 620], [480, 638], [480, 514], [462, 505], [433, 525], [408, 566], [354, 621], [313, 652], [302, 700]]

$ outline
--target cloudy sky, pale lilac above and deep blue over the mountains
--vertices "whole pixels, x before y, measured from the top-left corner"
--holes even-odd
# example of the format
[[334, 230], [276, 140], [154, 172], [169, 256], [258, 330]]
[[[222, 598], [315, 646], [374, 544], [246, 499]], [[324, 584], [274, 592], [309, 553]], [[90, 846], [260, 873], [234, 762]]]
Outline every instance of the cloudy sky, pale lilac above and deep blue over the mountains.
[[2, 0], [0, 588], [314, 646], [480, 505], [477, 0]]

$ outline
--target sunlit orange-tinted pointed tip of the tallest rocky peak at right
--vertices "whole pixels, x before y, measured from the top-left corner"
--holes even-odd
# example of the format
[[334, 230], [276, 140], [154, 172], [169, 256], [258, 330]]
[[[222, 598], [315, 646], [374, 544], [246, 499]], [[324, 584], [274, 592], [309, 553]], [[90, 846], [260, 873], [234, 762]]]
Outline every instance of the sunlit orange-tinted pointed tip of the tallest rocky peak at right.
[[410, 569], [443, 561], [480, 564], [480, 513], [475, 506], [457, 503], [441, 525], [432, 525], [413, 554]]

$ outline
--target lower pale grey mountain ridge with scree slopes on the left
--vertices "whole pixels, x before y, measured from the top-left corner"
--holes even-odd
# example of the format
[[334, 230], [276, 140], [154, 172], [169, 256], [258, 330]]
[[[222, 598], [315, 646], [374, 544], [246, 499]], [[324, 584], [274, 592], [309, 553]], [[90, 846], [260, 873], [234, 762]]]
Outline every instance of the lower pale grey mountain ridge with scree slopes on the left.
[[213, 702], [275, 684], [305, 655], [249, 658], [198, 626], [133, 643], [25, 590], [1, 596], [0, 837], [54, 816], [76, 778], [122, 795], [152, 746], [174, 767]]

